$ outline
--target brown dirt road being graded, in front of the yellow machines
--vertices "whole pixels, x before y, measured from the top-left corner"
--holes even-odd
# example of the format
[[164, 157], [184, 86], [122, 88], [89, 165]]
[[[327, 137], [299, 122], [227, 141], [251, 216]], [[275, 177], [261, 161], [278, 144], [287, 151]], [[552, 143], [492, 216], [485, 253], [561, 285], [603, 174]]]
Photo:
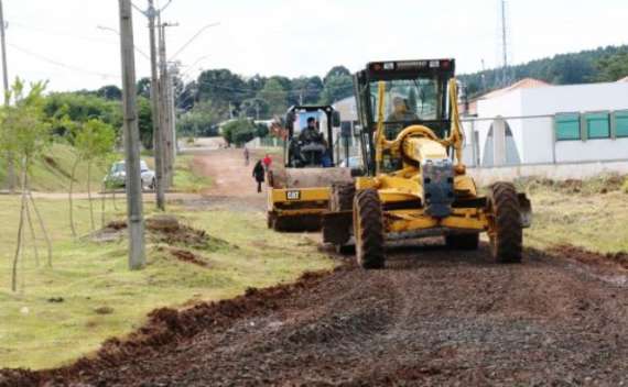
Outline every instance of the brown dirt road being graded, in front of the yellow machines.
[[[212, 169], [219, 159], [206, 158], [224, 194], [235, 180]], [[63, 369], [6, 372], [0, 385], [628, 386], [625, 270], [534, 251], [495, 265], [485, 245], [440, 243], [391, 247], [385, 270], [347, 264], [155, 311], [129, 342]]]

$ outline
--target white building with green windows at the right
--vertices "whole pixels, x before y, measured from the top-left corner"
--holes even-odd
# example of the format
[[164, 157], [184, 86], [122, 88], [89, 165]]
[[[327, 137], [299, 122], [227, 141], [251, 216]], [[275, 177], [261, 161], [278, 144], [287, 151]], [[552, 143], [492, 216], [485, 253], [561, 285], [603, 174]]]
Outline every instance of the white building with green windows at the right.
[[628, 161], [628, 82], [524, 79], [474, 101], [466, 163], [508, 166]]

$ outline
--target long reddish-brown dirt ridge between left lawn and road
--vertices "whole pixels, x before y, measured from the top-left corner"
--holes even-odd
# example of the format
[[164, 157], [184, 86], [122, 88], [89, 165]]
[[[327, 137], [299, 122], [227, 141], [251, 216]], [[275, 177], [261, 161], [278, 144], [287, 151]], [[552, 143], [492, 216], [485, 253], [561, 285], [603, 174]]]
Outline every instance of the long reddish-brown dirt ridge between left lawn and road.
[[[334, 273], [340, 270], [339, 268]], [[149, 314], [148, 323], [131, 333], [128, 339], [109, 339], [95, 355], [83, 357], [71, 366], [42, 372], [0, 371], [0, 387], [72, 385], [86, 375], [98, 375], [100, 371], [123, 366], [139, 357], [159, 354], [165, 346], [176, 345], [181, 340], [192, 338], [204, 330], [228, 328], [234, 320], [277, 310], [295, 292], [316, 287], [329, 275], [333, 274], [306, 273], [291, 285], [267, 289], [249, 288], [243, 296], [199, 303], [182, 311], [171, 308], [156, 309]]]

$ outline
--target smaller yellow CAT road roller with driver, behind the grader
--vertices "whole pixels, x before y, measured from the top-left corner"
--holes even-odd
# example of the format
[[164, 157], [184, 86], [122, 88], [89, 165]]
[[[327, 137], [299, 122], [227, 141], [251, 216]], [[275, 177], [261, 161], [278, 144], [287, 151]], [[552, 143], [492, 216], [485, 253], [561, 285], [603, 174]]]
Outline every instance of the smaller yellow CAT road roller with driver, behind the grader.
[[339, 113], [331, 106], [295, 106], [288, 110], [284, 165], [268, 172], [269, 228], [288, 232], [321, 230], [329, 187], [353, 181], [350, 169], [336, 167], [334, 158], [334, 128], [339, 125]]

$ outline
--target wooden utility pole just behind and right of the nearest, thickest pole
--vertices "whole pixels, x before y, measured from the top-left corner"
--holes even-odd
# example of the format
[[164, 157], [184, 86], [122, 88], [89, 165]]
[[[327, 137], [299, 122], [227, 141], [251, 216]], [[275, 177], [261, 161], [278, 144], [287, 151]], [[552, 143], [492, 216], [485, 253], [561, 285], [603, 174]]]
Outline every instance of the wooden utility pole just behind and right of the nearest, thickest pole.
[[160, 104], [160, 85], [158, 73], [158, 56], [156, 56], [156, 38], [155, 38], [155, 18], [158, 11], [154, 8], [154, 0], [149, 0], [149, 10], [147, 16], [149, 18], [150, 29], [150, 45], [151, 45], [151, 100], [152, 100], [152, 115], [153, 115], [153, 148], [155, 156], [155, 180], [156, 180], [156, 207], [160, 210], [165, 210], [165, 185], [164, 185], [164, 142], [161, 123], [161, 104]]

